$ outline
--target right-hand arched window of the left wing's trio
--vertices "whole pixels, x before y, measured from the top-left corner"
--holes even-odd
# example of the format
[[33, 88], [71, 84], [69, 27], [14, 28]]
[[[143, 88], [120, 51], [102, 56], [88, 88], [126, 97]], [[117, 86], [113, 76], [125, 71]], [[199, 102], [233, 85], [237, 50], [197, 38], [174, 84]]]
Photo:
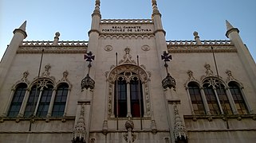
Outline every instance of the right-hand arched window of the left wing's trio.
[[56, 96], [53, 103], [53, 117], [61, 117], [65, 111], [65, 103], [67, 100], [69, 92], [69, 85], [67, 83], [61, 83], [59, 87], [57, 87]]

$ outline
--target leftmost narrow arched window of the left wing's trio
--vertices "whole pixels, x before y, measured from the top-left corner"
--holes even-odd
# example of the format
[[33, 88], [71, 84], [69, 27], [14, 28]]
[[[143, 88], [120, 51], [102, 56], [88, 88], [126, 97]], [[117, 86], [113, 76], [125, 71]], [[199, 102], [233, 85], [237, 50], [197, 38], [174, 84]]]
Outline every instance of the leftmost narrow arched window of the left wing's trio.
[[18, 112], [22, 106], [22, 101], [26, 94], [26, 88], [26, 83], [19, 83], [16, 87], [14, 97], [10, 103], [10, 108], [7, 115], [8, 117], [16, 117], [18, 115]]

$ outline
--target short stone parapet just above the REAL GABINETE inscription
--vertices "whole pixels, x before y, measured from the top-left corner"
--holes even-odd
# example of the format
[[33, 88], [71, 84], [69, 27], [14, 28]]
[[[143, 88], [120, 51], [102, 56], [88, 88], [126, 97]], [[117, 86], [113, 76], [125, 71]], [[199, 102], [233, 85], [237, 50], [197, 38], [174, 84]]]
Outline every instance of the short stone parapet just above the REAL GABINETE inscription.
[[152, 19], [102, 19], [100, 24], [152, 24]]

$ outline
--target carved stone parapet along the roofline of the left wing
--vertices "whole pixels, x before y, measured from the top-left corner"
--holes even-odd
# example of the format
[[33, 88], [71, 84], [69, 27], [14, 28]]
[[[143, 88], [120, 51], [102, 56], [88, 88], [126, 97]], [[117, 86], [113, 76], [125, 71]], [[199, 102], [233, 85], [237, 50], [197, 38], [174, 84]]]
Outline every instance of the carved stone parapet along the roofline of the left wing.
[[88, 48], [88, 41], [23, 41], [17, 53], [85, 53]]

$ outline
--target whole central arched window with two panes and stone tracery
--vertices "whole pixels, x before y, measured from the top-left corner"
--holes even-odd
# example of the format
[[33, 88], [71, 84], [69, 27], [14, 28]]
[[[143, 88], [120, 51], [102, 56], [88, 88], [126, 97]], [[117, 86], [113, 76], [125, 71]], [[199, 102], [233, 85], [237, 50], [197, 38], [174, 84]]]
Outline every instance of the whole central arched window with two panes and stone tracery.
[[118, 117], [143, 117], [143, 90], [137, 74], [128, 71], [121, 72], [117, 79], [114, 94], [115, 117], [117, 115]]

